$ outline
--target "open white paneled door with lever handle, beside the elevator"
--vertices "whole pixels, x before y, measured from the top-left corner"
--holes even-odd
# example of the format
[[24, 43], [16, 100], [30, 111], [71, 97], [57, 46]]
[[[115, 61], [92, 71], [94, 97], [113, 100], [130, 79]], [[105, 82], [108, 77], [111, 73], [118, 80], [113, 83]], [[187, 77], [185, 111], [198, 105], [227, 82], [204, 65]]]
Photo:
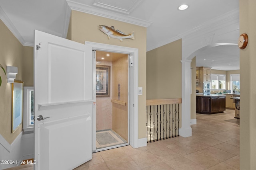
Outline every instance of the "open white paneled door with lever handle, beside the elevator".
[[92, 48], [34, 36], [34, 169], [71, 170], [92, 159]]

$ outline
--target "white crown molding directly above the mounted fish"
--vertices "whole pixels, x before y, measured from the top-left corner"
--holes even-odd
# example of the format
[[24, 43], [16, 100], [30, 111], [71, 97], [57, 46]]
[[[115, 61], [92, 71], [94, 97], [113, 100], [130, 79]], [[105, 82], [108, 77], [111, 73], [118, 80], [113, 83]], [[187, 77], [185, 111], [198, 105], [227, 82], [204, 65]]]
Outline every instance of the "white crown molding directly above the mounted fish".
[[96, 15], [96, 16], [104, 17], [104, 18], [110, 18], [110, 19], [113, 19], [113, 20], [118, 20], [118, 21], [122, 21], [122, 22], [126, 22], [126, 23], [131, 23], [131, 24], [134, 24], [134, 25], [142, 26], [142, 27], [148, 27], [152, 23], [150, 21], [140, 20], [138, 18], [125, 16], [124, 14], [116, 15], [116, 13], [114, 13], [114, 12], [108, 12], [106, 10], [102, 10], [102, 9], [98, 9], [98, 8], [95, 8], [95, 7], [92, 7], [92, 6], [81, 4], [81, 3], [78, 3], [78, 2], [74, 2], [72, 0], [66, 0], [66, 2], [70, 6], [71, 10], [76, 10], [76, 11], [79, 11], [79, 12], [93, 14], [93, 15]]

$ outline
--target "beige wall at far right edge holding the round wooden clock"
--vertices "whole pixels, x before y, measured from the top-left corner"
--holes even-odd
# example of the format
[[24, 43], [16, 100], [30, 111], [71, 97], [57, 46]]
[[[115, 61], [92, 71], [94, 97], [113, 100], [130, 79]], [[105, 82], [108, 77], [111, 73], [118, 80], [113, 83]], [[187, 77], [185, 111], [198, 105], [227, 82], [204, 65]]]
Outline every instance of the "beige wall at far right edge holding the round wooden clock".
[[240, 50], [240, 169], [256, 169], [256, 1], [239, 0], [240, 34], [248, 45]]

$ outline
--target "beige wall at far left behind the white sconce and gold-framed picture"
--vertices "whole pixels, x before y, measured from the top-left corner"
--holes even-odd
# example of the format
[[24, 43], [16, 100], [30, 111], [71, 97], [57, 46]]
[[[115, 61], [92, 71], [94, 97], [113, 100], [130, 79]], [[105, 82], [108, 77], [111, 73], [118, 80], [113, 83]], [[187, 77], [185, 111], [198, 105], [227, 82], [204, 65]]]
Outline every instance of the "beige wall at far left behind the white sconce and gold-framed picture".
[[[0, 64], [5, 69], [6, 66], [18, 67], [16, 80], [23, 81], [23, 46], [1, 20], [0, 37]], [[0, 134], [11, 144], [22, 131], [22, 126], [12, 133], [12, 84], [7, 83], [2, 68], [0, 68], [0, 76], [2, 78], [0, 87]]]

